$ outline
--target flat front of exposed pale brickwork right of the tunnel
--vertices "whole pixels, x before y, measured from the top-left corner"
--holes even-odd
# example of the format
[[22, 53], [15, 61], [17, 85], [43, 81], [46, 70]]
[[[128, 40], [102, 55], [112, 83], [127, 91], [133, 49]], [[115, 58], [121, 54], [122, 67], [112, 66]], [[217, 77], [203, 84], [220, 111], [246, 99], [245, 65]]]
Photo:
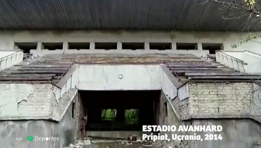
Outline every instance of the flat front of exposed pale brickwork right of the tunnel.
[[194, 83], [189, 85], [189, 115], [249, 114], [253, 84]]

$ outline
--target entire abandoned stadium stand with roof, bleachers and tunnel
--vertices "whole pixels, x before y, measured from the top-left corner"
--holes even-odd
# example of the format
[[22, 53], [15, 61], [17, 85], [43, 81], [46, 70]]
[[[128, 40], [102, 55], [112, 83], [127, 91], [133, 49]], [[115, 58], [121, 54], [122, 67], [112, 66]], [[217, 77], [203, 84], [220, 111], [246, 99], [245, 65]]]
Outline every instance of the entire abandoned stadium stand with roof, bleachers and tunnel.
[[[129, 15], [135, 15], [134, 11], [143, 13], [134, 0], [126, 4], [116, 1], [130, 9]], [[192, 0], [166, 0], [172, 6], [178, 2], [191, 3], [187, 7], [197, 10], [211, 7], [218, 12], [219, 7], [211, 2], [196, 5], [198, 2]], [[86, 6], [84, 1], [43, 3], [59, 7], [63, 12]], [[115, 3], [112, 6], [94, 3], [87, 7], [122, 9]], [[144, 9], [153, 11], [156, 0], [144, 3]], [[70, 19], [61, 19], [55, 15], [56, 11], [50, 12], [55, 17], [52, 19], [40, 9], [43, 6], [29, 1], [23, 7], [28, 12], [39, 10], [35, 17], [24, 13], [18, 2], [8, 2], [5, 7], [10, 5], [16, 5], [17, 9], [7, 11], [0, 5], [3, 10], [0, 20], [7, 20], [8, 16], [19, 23], [9, 19], [5, 23], [0, 21], [0, 147], [60, 148], [85, 137], [126, 139], [137, 135], [141, 138], [142, 125], [223, 127], [221, 132], [196, 132], [202, 136], [220, 133], [223, 140], [184, 140], [179, 141], [180, 147], [256, 148], [260, 145], [261, 94], [257, 91], [261, 84], [261, 55], [257, 50], [260, 44], [248, 42], [231, 47], [249, 34], [240, 25], [245, 23], [244, 18], [229, 22], [216, 14], [218, 22], [202, 26], [196, 22], [196, 16], [202, 16], [204, 11], [196, 11], [196, 14], [189, 13], [195, 18], [182, 20], [180, 27], [179, 23], [167, 21], [168, 13], [162, 12], [163, 15], [153, 13], [130, 19], [139, 22], [154, 16], [165, 23], [126, 25], [124, 20], [117, 24], [114, 19], [125, 13], [117, 11], [121, 14], [117, 16], [108, 9], [107, 25], [95, 21], [97, 17], [102, 20], [102, 13], [95, 18], [76, 17], [77, 25], [71, 24]], [[173, 17], [178, 13], [163, 5], [158, 9], [168, 9]], [[75, 15], [85, 15], [81, 9], [73, 10]], [[45, 25], [36, 21], [40, 11], [46, 18], [40, 18], [39, 22], [44, 21]], [[97, 13], [91, 8], [90, 12]], [[22, 15], [32, 19], [17, 19]], [[180, 14], [178, 18], [186, 15]], [[210, 19], [210, 16], [202, 18]], [[260, 21], [252, 21], [249, 29], [258, 33], [261, 28], [256, 23]], [[59, 137], [59, 140], [28, 141], [29, 135]], [[17, 137], [22, 140], [16, 141]]]

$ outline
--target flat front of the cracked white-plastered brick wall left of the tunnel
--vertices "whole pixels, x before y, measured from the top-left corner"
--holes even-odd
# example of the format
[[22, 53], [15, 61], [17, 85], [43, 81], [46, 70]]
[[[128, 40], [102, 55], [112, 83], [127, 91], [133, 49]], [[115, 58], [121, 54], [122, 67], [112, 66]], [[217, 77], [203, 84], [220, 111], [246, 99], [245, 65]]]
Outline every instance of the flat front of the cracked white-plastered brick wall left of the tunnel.
[[45, 119], [55, 98], [51, 84], [0, 84], [0, 117]]

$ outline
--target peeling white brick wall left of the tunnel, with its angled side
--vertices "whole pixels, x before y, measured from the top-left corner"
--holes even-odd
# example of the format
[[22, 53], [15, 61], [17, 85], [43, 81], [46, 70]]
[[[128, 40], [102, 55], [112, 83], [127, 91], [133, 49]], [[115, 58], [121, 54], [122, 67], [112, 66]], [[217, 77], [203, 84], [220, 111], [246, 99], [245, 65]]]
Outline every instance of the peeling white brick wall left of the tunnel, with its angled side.
[[60, 121], [77, 93], [76, 87], [55, 99], [52, 84], [0, 84], [1, 120]]

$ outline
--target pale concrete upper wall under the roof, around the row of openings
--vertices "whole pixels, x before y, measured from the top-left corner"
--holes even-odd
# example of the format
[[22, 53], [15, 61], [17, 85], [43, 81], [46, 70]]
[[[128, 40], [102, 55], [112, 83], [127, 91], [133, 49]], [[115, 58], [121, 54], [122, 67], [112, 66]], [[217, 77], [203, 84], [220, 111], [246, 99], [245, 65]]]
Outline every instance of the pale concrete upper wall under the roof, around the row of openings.
[[[224, 50], [250, 50], [260, 53], [260, 40], [249, 41], [239, 45], [237, 48], [231, 47], [240, 38], [245, 38], [250, 33], [236, 32], [156, 32], [156, 31], [1, 31], [0, 50], [14, 49], [15, 42], [37, 42], [37, 49], [41, 49], [42, 42], [63, 42], [63, 48], [67, 49], [68, 42], [90, 42], [91, 49], [94, 49], [94, 42], [143, 42], [146, 43], [145, 50], [149, 50], [149, 42], [173, 43], [172, 49], [176, 49], [179, 43], [198, 43], [199, 52], [202, 50], [201, 43], [223, 43]], [[258, 34], [258, 32], [256, 33]], [[121, 46], [118, 47], [121, 47]], [[119, 48], [120, 49], [120, 48]], [[179, 52], [173, 51], [173, 52]], [[182, 51], [185, 52], [185, 51]], [[189, 51], [195, 52], [195, 51]]]

